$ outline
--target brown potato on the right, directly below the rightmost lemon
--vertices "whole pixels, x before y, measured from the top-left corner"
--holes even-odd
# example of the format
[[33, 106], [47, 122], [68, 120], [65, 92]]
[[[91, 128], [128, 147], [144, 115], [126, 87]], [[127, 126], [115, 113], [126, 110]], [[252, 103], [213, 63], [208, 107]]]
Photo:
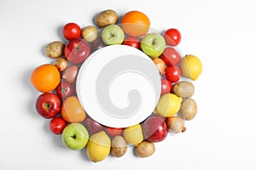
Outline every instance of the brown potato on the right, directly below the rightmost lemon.
[[174, 84], [172, 92], [179, 97], [190, 98], [194, 94], [195, 88], [192, 82], [181, 81]]

